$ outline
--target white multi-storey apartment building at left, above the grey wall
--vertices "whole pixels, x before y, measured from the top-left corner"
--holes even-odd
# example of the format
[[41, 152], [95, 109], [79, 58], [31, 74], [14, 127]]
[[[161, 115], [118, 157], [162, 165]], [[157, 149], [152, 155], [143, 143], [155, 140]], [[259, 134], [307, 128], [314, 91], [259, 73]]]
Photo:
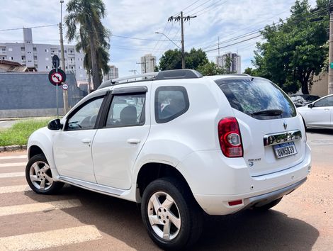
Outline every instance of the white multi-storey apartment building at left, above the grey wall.
[[[31, 28], [23, 28], [23, 43], [0, 43], [0, 60], [9, 60], [26, 67], [35, 67], [38, 72], [49, 72], [52, 69], [53, 55], [58, 55], [61, 66], [60, 52], [60, 45], [33, 43]], [[83, 60], [83, 52], [77, 52], [74, 45], [64, 45], [65, 71], [74, 72], [78, 81], [86, 82]]]

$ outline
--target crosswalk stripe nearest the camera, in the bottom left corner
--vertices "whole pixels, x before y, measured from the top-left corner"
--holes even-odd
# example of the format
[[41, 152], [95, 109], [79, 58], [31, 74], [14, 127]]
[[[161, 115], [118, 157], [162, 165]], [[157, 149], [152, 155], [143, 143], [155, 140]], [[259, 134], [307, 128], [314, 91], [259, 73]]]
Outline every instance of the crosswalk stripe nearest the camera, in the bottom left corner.
[[[64, 228], [40, 233], [28, 233], [0, 238], [0, 251], [41, 250], [48, 247], [59, 247], [89, 240], [101, 239], [102, 235], [94, 225], [76, 228]], [[64, 248], [65, 250], [66, 248]]]

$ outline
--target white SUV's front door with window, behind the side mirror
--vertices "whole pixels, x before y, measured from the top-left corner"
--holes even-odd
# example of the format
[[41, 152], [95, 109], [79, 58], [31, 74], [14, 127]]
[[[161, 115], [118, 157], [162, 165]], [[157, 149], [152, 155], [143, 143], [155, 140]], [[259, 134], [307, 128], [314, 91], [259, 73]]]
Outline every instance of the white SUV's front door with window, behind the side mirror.
[[69, 114], [64, 130], [55, 135], [53, 154], [60, 176], [94, 182], [91, 143], [105, 94], [93, 96]]

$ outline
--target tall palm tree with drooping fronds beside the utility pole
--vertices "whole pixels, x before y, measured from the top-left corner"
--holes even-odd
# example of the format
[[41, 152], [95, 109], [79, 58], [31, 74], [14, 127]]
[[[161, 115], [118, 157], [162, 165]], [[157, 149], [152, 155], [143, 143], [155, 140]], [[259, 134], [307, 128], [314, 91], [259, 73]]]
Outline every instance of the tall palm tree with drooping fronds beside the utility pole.
[[101, 68], [98, 70], [98, 67], [105, 65], [101, 61], [108, 60], [110, 48], [108, 43], [110, 32], [101, 23], [106, 14], [105, 5], [101, 0], [70, 0], [67, 12], [69, 13], [65, 17], [67, 38], [69, 42], [74, 38], [81, 41], [79, 48], [82, 48], [86, 54], [85, 67], [88, 67], [86, 68], [88, 72], [91, 69], [94, 89], [97, 89], [102, 79]]

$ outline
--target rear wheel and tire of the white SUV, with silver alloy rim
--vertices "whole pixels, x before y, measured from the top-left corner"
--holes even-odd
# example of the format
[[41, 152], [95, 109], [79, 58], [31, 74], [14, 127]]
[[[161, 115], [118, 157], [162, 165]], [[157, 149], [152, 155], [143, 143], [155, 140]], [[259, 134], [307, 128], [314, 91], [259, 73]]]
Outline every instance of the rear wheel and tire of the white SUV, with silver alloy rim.
[[188, 186], [164, 177], [145, 189], [142, 221], [150, 238], [164, 250], [184, 250], [201, 235], [203, 211]]

